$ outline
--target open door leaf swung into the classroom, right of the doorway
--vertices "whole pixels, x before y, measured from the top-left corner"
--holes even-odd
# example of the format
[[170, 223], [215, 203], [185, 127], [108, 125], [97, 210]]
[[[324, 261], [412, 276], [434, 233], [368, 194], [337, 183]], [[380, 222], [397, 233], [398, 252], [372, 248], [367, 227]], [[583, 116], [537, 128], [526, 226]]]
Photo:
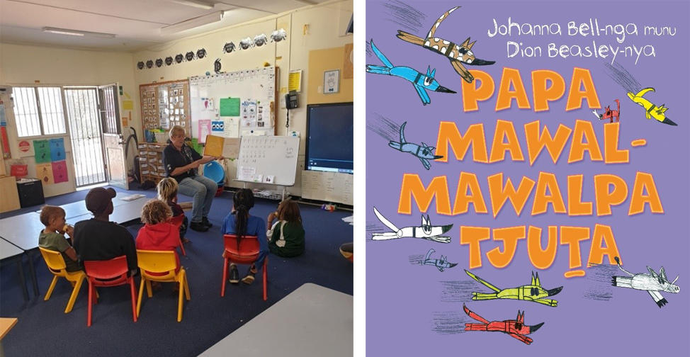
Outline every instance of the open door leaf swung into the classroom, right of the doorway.
[[106, 173], [108, 183], [119, 188], [129, 189], [125, 147], [120, 123], [120, 96], [118, 84], [98, 87], [99, 111], [103, 120], [103, 144], [106, 149]]

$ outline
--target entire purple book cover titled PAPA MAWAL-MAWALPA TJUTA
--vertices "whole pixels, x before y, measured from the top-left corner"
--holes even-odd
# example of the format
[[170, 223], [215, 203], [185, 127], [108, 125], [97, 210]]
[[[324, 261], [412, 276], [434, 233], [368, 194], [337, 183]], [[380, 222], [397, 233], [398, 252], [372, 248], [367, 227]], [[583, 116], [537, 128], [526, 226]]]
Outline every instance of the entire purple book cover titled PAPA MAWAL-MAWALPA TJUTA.
[[367, 1], [368, 354], [689, 354], [689, 4]]

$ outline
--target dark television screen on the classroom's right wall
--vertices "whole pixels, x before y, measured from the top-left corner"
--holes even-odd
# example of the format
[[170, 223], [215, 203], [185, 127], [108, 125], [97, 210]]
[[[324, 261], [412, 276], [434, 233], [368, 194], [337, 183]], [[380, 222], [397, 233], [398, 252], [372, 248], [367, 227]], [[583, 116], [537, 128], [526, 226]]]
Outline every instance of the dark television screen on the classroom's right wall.
[[352, 103], [307, 106], [307, 170], [353, 173]]

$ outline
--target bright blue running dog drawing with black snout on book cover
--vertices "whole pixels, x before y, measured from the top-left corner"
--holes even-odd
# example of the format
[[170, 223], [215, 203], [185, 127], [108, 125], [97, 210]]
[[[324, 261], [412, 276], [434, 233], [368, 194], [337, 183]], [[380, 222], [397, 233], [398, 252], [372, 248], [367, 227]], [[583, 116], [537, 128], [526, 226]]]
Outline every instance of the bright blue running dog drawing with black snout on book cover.
[[417, 91], [419, 99], [422, 99], [422, 103], [425, 106], [426, 104], [431, 103], [431, 98], [429, 98], [429, 94], [426, 93], [426, 89], [429, 89], [429, 91], [437, 91], [442, 93], [456, 93], [455, 91], [451, 91], [450, 89], [441, 86], [441, 84], [439, 84], [439, 82], [436, 81], [436, 79], [434, 79], [436, 69], [432, 71], [431, 67], [428, 67], [426, 69], [426, 75], [424, 75], [421, 72], [418, 72], [417, 69], [402, 66], [393, 66], [393, 64], [388, 60], [388, 58], [386, 58], [385, 55], [383, 55], [383, 53], [381, 53], [378, 50], [378, 47], [374, 45], [374, 40], [371, 40], [371, 50], [373, 50], [373, 52], [376, 54], [376, 57], [378, 57], [378, 59], [381, 60], [383, 64], [385, 64], [385, 67], [367, 64], [366, 72], [400, 77], [402, 79], [406, 79], [407, 81], [412, 82], [414, 89]]

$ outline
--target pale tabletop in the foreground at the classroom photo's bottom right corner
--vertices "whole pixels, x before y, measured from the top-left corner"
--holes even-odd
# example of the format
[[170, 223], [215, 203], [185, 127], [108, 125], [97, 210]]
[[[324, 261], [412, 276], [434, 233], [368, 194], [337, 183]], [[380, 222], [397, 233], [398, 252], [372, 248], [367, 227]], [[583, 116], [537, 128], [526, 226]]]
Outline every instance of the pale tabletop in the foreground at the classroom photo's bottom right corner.
[[352, 296], [306, 283], [200, 356], [351, 357], [353, 331]]

